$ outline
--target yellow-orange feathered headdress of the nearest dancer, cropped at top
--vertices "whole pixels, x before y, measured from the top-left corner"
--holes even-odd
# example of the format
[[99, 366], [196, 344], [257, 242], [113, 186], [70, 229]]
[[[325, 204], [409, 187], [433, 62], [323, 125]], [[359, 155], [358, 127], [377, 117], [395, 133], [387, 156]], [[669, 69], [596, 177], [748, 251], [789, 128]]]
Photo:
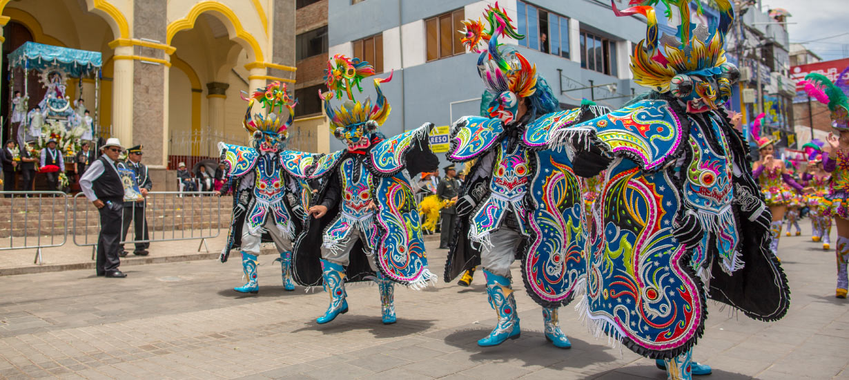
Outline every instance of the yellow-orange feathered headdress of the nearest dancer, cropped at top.
[[[661, 2], [666, 5], [665, 15], [671, 23], [672, 20], [681, 21], [676, 37], [658, 38], [655, 5]], [[648, 19], [645, 39], [637, 44], [631, 57], [634, 82], [639, 85], [666, 93], [671, 90], [672, 78], [678, 74], [719, 76], [733, 67], [722, 65], [725, 63], [722, 48], [725, 35], [734, 22], [734, 7], [729, 0], [713, 0], [719, 10], [719, 23], [711, 31], [690, 21], [690, 0], [630, 0], [629, 5], [633, 7], [622, 10], [616, 9], [613, 0], [610, 3], [617, 16], [642, 14]], [[696, 3], [699, 3], [696, 12], [701, 14], [701, 3]]]

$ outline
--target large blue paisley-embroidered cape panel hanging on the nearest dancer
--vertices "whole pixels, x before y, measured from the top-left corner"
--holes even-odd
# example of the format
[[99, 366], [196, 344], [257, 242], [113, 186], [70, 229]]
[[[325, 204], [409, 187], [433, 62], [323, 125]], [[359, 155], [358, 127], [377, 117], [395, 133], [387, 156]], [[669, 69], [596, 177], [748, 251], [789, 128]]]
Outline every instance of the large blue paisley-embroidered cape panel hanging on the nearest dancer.
[[596, 331], [629, 347], [689, 346], [702, 328], [705, 298], [681, 267], [684, 247], [672, 235], [674, 213], [665, 211], [681, 206], [677, 189], [666, 173], [644, 173], [633, 162], [608, 173], [600, 199], [604, 237], [588, 246], [587, 295], [580, 307]]

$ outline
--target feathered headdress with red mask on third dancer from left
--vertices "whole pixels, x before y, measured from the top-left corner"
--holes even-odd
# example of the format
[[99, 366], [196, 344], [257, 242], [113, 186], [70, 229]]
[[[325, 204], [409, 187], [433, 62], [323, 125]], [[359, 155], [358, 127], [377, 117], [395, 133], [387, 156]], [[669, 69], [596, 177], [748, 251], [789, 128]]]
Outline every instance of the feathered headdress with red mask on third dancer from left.
[[[498, 43], [502, 36], [517, 40], [525, 38], [516, 31], [507, 12], [498, 7], [498, 2], [486, 8], [484, 15], [489, 23], [484, 26], [481, 19], [465, 20], [461, 42], [471, 52], [480, 53], [477, 61], [478, 75], [483, 79], [486, 90], [495, 96], [487, 113], [501, 117], [505, 122], [512, 120], [518, 98], [531, 99], [538, 113], [557, 109], [557, 100], [542, 77], [537, 76], [537, 65], [532, 65], [524, 55], [514, 48]], [[486, 49], [481, 48], [486, 46]]]

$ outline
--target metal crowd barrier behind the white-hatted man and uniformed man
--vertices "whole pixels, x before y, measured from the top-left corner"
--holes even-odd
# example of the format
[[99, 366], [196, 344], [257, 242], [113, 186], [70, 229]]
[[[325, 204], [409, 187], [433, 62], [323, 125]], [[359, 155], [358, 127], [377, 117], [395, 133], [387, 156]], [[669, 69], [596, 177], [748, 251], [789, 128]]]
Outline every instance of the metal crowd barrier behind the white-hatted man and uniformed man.
[[[186, 241], [200, 239], [200, 248], [205, 248], [206, 239], [216, 238], [221, 233], [221, 197], [216, 191], [151, 191], [145, 198], [144, 207], [127, 207], [121, 217], [121, 244], [158, 241]], [[82, 194], [74, 201], [73, 240], [80, 247], [92, 247], [92, 259], [96, 257], [100, 214], [97, 207]], [[142, 213], [148, 238], [135, 239], [136, 213]], [[125, 237], [127, 239], [125, 239]], [[130, 248], [130, 247], [126, 247]], [[129, 249], [127, 249], [129, 250]]]

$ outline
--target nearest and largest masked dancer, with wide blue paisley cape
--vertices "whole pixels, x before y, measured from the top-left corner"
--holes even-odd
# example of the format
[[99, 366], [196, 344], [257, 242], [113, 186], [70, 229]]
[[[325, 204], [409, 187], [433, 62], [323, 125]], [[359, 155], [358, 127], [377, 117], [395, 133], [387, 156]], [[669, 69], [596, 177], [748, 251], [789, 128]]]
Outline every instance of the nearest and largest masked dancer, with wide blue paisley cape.
[[692, 361], [706, 298], [778, 320], [790, 292], [769, 249], [773, 218], [747, 170], [748, 147], [722, 109], [739, 77], [722, 49], [733, 5], [717, 0], [718, 23], [706, 28], [690, 22], [689, 1], [666, 0], [681, 25], [661, 41], [657, 3], [613, 4], [617, 15], [648, 20], [631, 68], [652, 91], [591, 121], [555, 126], [551, 139], [572, 152], [576, 174], [606, 169], [582, 317], [678, 380], [711, 371]]

